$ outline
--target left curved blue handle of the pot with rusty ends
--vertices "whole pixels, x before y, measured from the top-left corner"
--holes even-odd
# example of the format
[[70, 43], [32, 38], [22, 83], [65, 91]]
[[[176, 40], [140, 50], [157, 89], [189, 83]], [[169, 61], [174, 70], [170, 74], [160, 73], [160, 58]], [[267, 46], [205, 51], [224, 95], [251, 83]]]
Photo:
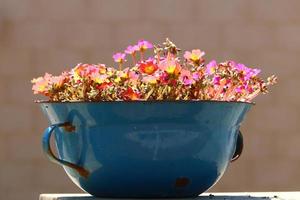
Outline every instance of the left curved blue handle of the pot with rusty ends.
[[58, 127], [64, 127], [65, 130], [69, 131], [69, 132], [74, 131], [74, 127], [69, 122], [53, 124], [53, 125], [49, 126], [48, 128], [46, 128], [44, 131], [43, 141], [42, 141], [43, 151], [44, 151], [45, 155], [48, 157], [48, 159], [51, 162], [54, 162], [58, 165], [70, 167], [70, 168], [74, 169], [75, 171], [77, 171], [81, 176], [87, 178], [89, 176], [88, 170], [86, 170], [85, 168], [78, 166], [76, 164], [73, 164], [68, 161], [57, 158], [54, 155], [53, 151], [51, 150], [50, 138], [51, 138], [53, 131]]

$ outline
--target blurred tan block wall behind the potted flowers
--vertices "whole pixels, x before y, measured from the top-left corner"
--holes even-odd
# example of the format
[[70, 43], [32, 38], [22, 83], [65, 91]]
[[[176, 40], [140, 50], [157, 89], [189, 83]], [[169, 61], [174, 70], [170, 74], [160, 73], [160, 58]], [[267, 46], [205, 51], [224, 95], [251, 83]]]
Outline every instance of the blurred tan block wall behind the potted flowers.
[[244, 154], [211, 191], [300, 190], [299, 0], [0, 0], [0, 199], [80, 192], [41, 151], [48, 125], [30, 80], [113, 64], [144, 38], [277, 74], [243, 124]]

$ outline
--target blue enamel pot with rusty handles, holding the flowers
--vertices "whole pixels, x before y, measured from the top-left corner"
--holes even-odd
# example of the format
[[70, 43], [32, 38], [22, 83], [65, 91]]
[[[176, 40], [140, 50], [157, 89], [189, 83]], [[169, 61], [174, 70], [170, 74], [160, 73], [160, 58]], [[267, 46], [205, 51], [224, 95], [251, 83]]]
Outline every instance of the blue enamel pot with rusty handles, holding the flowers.
[[[218, 101], [41, 102], [48, 158], [97, 197], [195, 197], [242, 148], [252, 104]], [[58, 156], [50, 148], [55, 137]]]

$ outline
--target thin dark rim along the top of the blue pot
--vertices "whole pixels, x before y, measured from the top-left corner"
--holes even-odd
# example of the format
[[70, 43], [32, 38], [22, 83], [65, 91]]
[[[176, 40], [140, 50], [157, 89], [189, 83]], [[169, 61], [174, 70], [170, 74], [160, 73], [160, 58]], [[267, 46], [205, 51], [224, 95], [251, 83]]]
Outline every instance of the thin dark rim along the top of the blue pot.
[[218, 101], [218, 100], [134, 100], [134, 101], [128, 101], [128, 100], [122, 100], [122, 101], [49, 101], [49, 100], [35, 100], [35, 103], [50, 103], [50, 104], [67, 104], [67, 103], [91, 103], [91, 104], [104, 104], [104, 103], [241, 103], [241, 104], [250, 104], [255, 105], [255, 102], [243, 102], [243, 101]]

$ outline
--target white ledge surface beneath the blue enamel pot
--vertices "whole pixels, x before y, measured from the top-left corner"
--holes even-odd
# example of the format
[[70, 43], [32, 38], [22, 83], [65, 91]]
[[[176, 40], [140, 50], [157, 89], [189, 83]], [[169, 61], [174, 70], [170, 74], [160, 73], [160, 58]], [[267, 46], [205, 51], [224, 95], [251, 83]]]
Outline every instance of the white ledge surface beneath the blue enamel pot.
[[[96, 198], [88, 194], [41, 194], [40, 195], [40, 200], [100, 200], [100, 199], [105, 200], [108, 198]], [[199, 197], [194, 198], [193, 200], [206, 200], [206, 199], [207, 200], [296, 200], [296, 199], [300, 200], [300, 192], [204, 193]], [[138, 199], [134, 199], [134, 200], [138, 200]], [[171, 200], [171, 199], [167, 199], [167, 200]]]

